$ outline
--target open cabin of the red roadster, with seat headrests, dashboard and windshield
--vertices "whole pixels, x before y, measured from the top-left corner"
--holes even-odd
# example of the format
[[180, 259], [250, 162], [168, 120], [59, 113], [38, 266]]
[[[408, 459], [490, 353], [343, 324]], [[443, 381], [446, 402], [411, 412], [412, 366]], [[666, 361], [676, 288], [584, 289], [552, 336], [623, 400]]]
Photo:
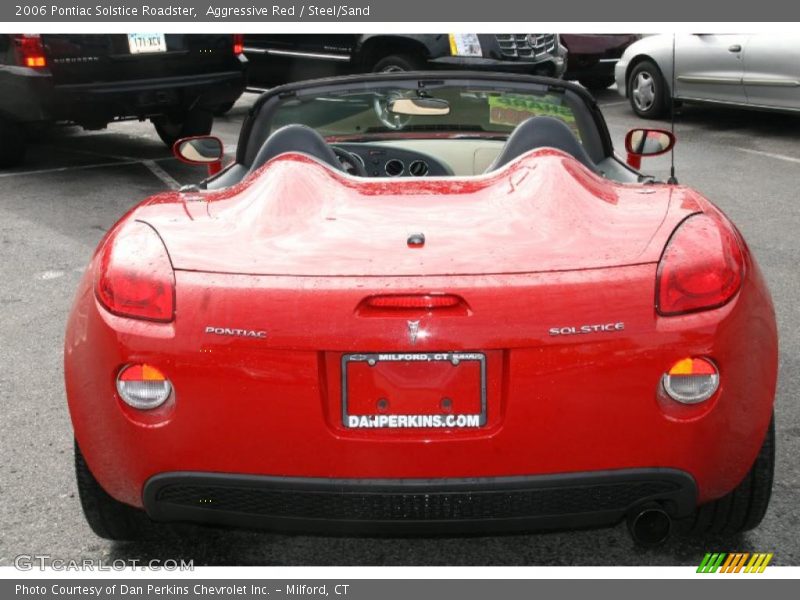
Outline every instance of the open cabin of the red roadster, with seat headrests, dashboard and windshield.
[[584, 99], [571, 90], [523, 91], [472, 82], [425, 94], [359, 89], [272, 97], [245, 124], [236, 163], [206, 187], [238, 183], [289, 152], [355, 177], [418, 178], [483, 175], [537, 148], [561, 150], [601, 177], [640, 181], [608, 152]]

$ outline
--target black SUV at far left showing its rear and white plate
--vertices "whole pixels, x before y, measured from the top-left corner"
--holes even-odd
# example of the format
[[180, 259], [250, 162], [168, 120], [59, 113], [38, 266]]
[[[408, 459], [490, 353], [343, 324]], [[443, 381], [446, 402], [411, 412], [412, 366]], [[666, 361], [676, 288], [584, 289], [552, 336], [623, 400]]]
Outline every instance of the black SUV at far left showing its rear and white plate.
[[150, 119], [170, 146], [208, 134], [244, 91], [246, 64], [238, 35], [0, 34], [0, 166], [58, 122]]

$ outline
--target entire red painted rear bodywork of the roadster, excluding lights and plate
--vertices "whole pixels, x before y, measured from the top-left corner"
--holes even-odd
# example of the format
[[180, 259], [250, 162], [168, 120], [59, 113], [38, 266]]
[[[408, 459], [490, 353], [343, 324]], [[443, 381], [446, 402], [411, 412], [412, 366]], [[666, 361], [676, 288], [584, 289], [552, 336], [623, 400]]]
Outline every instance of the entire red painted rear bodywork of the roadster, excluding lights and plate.
[[[157, 196], [118, 225], [141, 219], [163, 236], [176, 268], [174, 322], [104, 310], [96, 257], [69, 318], [75, 433], [119, 500], [141, 505], [144, 482], [166, 471], [444, 478], [671, 467], [696, 479], [702, 502], [733, 489], [758, 452], [777, 340], [746, 246], [741, 289], [725, 306], [655, 310], [671, 232], [716, 210], [687, 188], [617, 185], [539, 151], [491, 176], [433, 181], [359, 181], [286, 156], [204, 195]], [[425, 232], [424, 250], [406, 247], [411, 231]], [[417, 315], [424, 335], [414, 344], [405, 315], [358, 310], [379, 294], [440, 293], [469, 310]], [[623, 330], [549, 335], [617, 322]], [[485, 427], [343, 426], [343, 354], [453, 350], [486, 354]], [[699, 406], [658, 391], [687, 356], [719, 367], [719, 391]], [[174, 397], [149, 413], [125, 406], [114, 378], [132, 362], [161, 370]]]

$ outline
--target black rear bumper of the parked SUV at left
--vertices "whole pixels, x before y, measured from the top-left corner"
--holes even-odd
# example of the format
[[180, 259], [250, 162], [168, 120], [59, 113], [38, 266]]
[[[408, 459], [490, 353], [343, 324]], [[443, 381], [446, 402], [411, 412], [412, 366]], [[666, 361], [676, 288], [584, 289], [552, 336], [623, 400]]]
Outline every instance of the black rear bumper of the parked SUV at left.
[[22, 71], [32, 70], [16, 73], [15, 97], [0, 108], [23, 123], [72, 121], [102, 126], [114, 119], [144, 118], [197, 105], [213, 108], [235, 101], [246, 85], [243, 69], [76, 85], [56, 85], [45, 73]]

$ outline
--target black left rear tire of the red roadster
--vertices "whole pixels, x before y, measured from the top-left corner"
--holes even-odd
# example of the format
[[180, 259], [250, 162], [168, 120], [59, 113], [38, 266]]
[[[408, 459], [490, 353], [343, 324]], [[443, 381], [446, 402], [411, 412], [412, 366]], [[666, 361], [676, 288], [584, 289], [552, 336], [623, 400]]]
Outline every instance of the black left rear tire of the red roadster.
[[138, 508], [115, 500], [100, 487], [75, 442], [75, 476], [78, 496], [89, 527], [101, 538], [116, 541], [133, 541], [149, 537], [155, 523]]

